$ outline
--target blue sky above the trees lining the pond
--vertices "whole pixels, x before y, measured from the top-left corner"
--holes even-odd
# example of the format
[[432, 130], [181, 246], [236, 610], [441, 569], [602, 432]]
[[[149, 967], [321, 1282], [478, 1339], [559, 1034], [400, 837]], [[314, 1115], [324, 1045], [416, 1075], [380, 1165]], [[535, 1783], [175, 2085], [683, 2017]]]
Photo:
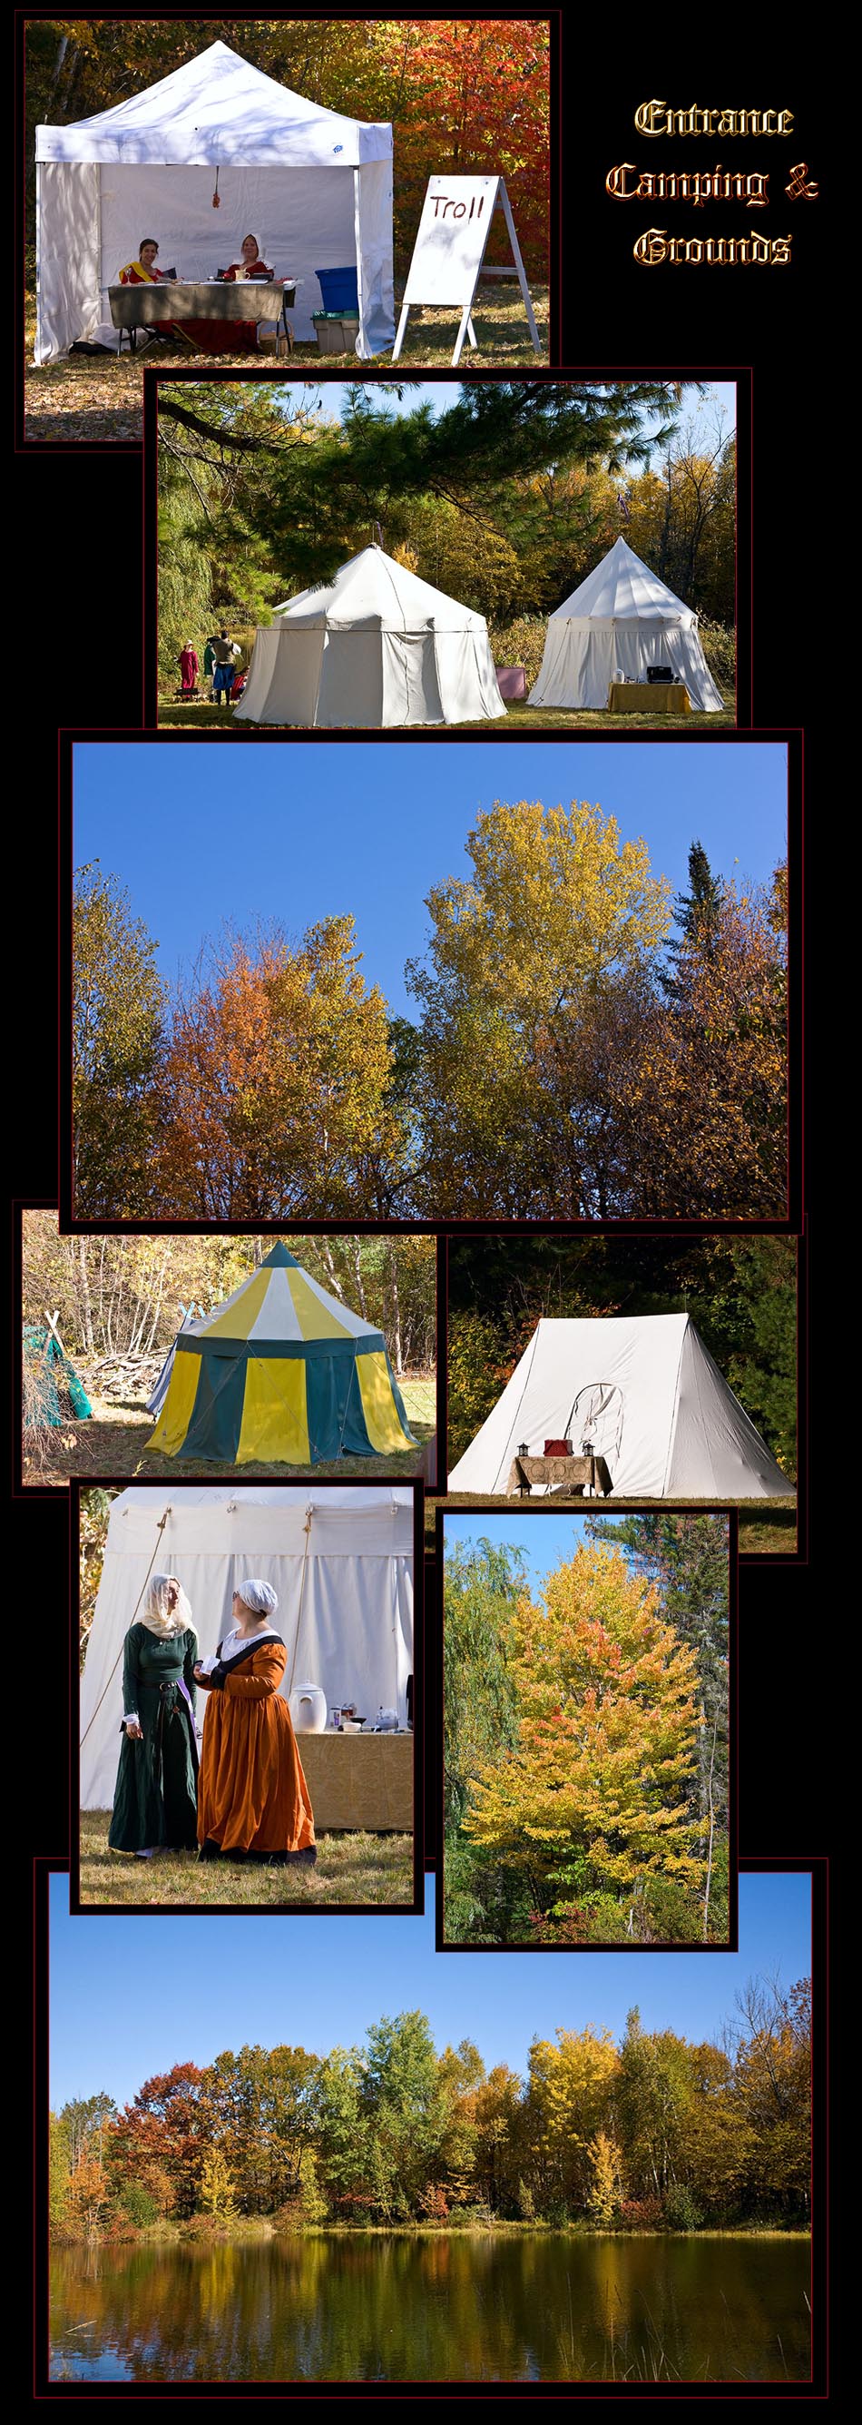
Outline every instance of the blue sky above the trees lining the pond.
[[436, 2047], [472, 2037], [487, 2066], [525, 2069], [533, 2037], [608, 2027], [639, 2003], [646, 2030], [700, 2039], [746, 1979], [811, 1969], [811, 1882], [739, 1879], [739, 1955], [436, 1955], [424, 1918], [109, 1918], [68, 1913], [51, 1879], [51, 2105], [107, 2088], [126, 2102], [153, 2071], [245, 2044], [361, 2044], [373, 2020], [421, 2010]]

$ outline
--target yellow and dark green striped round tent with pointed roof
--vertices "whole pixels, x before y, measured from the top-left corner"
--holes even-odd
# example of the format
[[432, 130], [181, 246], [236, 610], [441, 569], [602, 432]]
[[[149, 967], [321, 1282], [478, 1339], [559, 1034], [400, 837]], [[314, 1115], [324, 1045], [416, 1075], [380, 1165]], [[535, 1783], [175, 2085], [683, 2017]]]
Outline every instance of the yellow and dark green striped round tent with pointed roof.
[[259, 1271], [189, 1322], [148, 1448], [213, 1465], [320, 1465], [414, 1448], [383, 1331], [274, 1246]]

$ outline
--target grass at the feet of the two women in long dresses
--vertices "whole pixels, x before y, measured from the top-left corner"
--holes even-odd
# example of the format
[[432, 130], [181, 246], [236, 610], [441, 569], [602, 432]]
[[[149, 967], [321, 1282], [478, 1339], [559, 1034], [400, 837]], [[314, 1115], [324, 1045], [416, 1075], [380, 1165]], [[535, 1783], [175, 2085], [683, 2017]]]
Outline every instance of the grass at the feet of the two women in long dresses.
[[254, 1911], [339, 1911], [346, 1904], [412, 1904], [412, 1836], [320, 1836], [315, 1870], [266, 1870], [235, 1860], [199, 1860], [196, 1853], [109, 1850], [111, 1811], [80, 1811], [80, 1901], [123, 1904], [148, 1911], [153, 1904], [194, 1904], [196, 1911], [223, 1911], [247, 1904]]

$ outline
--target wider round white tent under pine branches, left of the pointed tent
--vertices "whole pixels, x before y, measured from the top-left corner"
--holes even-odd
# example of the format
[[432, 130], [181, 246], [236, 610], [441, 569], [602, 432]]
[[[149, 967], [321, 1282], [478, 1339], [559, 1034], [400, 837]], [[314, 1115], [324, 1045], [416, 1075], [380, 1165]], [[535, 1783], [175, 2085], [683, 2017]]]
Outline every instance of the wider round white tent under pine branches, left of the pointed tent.
[[487, 621], [363, 548], [259, 628], [235, 718], [254, 725], [460, 725], [506, 715]]

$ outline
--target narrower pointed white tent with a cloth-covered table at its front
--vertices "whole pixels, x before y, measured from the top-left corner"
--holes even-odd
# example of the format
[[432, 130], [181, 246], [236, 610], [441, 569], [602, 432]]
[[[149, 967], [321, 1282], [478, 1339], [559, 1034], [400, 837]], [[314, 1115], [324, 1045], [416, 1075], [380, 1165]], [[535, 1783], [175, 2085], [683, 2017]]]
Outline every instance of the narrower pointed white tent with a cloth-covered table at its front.
[[615, 672], [646, 681], [651, 664], [668, 664], [685, 681], [693, 708], [724, 708], [697, 638], [693, 606], [642, 565], [625, 538], [547, 621], [545, 655], [530, 708], [605, 708]]

